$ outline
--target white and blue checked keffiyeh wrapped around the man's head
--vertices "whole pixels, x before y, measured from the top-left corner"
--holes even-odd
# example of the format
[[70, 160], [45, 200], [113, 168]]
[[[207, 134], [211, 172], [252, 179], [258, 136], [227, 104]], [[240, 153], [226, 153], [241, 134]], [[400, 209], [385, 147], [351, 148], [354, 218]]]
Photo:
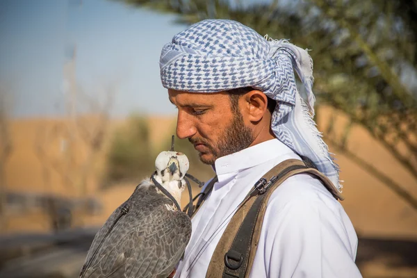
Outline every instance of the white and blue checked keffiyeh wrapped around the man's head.
[[[275, 99], [271, 122], [275, 136], [310, 158], [341, 190], [338, 165], [312, 119], [313, 60], [306, 50], [286, 40], [264, 38], [239, 22], [206, 19], [165, 44], [160, 67], [165, 88], [210, 93], [252, 87]], [[297, 90], [294, 70], [306, 89], [306, 103]]]

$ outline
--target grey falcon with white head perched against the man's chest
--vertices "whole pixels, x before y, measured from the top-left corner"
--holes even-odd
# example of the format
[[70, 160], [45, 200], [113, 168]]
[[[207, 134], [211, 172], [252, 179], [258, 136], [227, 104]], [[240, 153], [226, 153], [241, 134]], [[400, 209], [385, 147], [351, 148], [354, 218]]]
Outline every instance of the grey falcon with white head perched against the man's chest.
[[172, 147], [155, 166], [97, 232], [80, 278], [166, 278], [179, 263], [191, 236], [190, 218], [179, 209], [188, 158]]

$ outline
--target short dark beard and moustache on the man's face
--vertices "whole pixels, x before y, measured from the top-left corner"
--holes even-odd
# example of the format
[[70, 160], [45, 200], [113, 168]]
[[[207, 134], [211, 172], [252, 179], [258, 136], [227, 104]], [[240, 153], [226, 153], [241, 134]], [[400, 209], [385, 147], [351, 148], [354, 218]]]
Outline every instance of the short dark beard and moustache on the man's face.
[[234, 113], [233, 121], [227, 129], [224, 130], [223, 134], [220, 135], [219, 140], [214, 147], [209, 145], [204, 138], [188, 138], [188, 140], [193, 144], [197, 142], [204, 144], [210, 150], [209, 152], [213, 157], [211, 159], [204, 159], [202, 158], [203, 154], [200, 152], [199, 158], [202, 163], [214, 165], [217, 158], [234, 154], [235, 152], [239, 152], [242, 149], [249, 147], [254, 141], [254, 136], [252, 135], [251, 129], [245, 126], [242, 114], [238, 112]]

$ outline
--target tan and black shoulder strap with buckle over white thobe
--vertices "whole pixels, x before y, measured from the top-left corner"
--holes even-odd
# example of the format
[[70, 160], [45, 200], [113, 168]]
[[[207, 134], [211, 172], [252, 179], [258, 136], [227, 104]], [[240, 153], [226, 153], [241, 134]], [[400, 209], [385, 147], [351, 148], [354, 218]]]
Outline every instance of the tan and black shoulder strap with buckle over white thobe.
[[262, 177], [270, 182], [265, 192], [248, 196], [231, 218], [211, 257], [206, 277], [249, 277], [270, 196], [288, 177], [302, 172], [316, 175], [336, 199], [343, 199], [332, 182], [318, 170], [296, 159], [279, 163]]

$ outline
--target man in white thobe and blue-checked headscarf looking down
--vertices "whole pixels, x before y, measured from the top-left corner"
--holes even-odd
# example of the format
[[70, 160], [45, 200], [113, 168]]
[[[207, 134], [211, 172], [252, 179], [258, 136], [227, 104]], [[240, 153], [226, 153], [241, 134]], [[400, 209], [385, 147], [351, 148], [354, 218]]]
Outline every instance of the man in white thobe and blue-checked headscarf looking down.
[[[307, 157], [341, 189], [338, 167], [309, 115], [315, 99], [306, 51], [238, 22], [210, 19], [175, 35], [160, 65], [178, 108], [177, 136], [188, 138], [218, 177], [193, 217], [175, 277], [205, 277], [231, 215], [282, 161]], [[361, 277], [356, 252], [357, 235], [341, 204], [318, 179], [297, 174], [269, 199], [250, 277]]]

